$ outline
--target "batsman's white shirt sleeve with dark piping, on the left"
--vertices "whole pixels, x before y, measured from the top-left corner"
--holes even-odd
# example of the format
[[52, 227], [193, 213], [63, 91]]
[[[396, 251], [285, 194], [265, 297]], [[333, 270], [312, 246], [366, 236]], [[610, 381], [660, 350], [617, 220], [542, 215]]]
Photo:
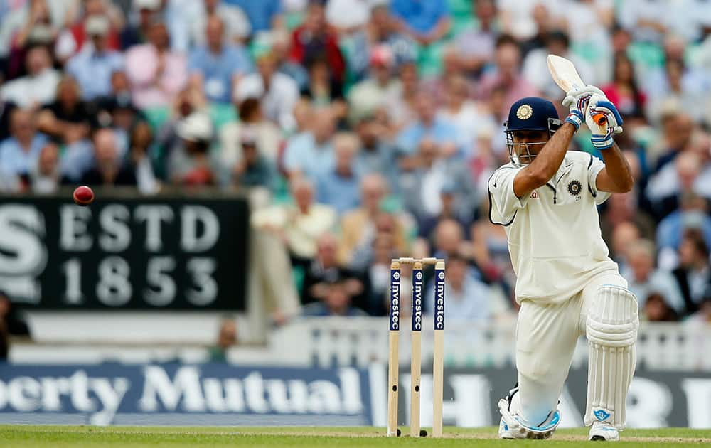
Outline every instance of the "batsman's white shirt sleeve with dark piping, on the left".
[[513, 179], [523, 166], [502, 166], [494, 171], [488, 181], [489, 195], [489, 220], [498, 225], [509, 225], [520, 208], [528, 202], [528, 195], [524, 198], [516, 197], [513, 193]]

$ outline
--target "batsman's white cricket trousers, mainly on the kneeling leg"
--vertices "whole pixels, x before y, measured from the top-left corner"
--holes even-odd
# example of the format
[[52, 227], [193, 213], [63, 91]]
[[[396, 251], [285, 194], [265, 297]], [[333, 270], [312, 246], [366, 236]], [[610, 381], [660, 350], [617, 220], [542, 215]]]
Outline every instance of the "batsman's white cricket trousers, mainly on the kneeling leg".
[[601, 272], [567, 302], [536, 304], [523, 299], [516, 325], [516, 368], [521, 416], [540, 425], [557, 407], [587, 310], [603, 284], [627, 287], [616, 271]]

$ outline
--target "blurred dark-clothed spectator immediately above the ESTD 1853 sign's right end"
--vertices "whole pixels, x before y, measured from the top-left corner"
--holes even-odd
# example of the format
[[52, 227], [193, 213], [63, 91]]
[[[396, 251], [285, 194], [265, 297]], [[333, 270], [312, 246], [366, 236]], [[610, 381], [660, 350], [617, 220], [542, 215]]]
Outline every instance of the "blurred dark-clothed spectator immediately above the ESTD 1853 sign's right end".
[[240, 132], [240, 159], [232, 165], [232, 178], [242, 188], [265, 188], [272, 191], [277, 180], [274, 162], [259, 147], [257, 132], [245, 127]]

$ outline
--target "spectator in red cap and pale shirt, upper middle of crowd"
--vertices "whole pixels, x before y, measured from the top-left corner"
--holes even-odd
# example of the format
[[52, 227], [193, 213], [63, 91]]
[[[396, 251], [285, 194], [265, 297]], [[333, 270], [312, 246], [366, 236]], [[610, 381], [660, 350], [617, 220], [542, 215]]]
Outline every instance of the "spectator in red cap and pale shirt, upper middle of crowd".
[[386, 106], [386, 99], [397, 95], [400, 83], [392, 78], [393, 55], [385, 45], [375, 46], [370, 52], [370, 76], [351, 87], [348, 107], [352, 122], [372, 115]]

